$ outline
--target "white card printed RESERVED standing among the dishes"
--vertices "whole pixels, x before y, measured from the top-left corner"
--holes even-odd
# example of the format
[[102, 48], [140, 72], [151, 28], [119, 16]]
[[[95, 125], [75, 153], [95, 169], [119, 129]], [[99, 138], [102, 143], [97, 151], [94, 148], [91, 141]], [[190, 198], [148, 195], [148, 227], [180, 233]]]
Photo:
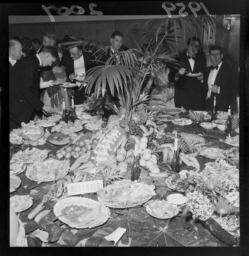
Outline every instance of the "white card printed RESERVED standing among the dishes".
[[79, 195], [83, 193], [94, 193], [103, 188], [103, 180], [92, 180], [90, 182], [76, 182], [67, 185], [68, 195]]

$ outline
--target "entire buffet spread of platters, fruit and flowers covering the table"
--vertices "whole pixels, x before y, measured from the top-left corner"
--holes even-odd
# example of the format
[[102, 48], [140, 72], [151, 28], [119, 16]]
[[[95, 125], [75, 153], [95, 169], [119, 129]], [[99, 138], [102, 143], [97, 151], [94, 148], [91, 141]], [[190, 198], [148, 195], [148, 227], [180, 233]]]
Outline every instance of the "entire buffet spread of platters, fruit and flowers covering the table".
[[238, 246], [238, 118], [228, 134], [225, 112], [76, 115], [10, 133], [10, 204], [27, 246]]

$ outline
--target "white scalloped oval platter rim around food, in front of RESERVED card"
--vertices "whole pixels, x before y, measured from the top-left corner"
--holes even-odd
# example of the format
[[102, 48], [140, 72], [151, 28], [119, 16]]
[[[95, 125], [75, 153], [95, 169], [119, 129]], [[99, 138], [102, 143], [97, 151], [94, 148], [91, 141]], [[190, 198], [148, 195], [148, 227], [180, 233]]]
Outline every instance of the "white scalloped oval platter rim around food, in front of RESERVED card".
[[[54, 215], [59, 216], [62, 214], [62, 209], [70, 205], [84, 206], [94, 208], [94, 218], [89, 223], [76, 223], [71, 219], [68, 219], [66, 215], [62, 215], [58, 217], [60, 221], [66, 223], [70, 227], [74, 227], [76, 229], [86, 229], [92, 228], [99, 225], [104, 224], [110, 217], [110, 209], [98, 201], [86, 198], [86, 197], [66, 197], [60, 199], [54, 205]], [[98, 213], [98, 207], [100, 207], [100, 211]], [[84, 217], [84, 215], [82, 215]]]

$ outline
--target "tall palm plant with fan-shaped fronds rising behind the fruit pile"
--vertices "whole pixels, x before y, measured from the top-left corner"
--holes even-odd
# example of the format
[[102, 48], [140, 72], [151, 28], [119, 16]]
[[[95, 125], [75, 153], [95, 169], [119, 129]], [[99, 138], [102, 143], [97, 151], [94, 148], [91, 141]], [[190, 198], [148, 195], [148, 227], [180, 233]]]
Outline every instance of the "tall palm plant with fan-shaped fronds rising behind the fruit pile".
[[[153, 20], [149, 21], [146, 27], [153, 25]], [[149, 31], [153, 31], [149, 27]], [[94, 86], [94, 96], [104, 96], [108, 89], [110, 94], [119, 99], [120, 107], [112, 104], [114, 111], [120, 115], [120, 110], [129, 112], [132, 116], [137, 107], [141, 104], [147, 104], [150, 100], [149, 90], [144, 90], [145, 82], [149, 76], [155, 72], [165, 72], [165, 66], [177, 67], [173, 44], [179, 41], [186, 41], [186, 36], [196, 35], [197, 31], [209, 31], [211, 34], [219, 33], [222, 39], [228, 40], [228, 35], [224, 27], [213, 17], [200, 15], [198, 17], [186, 16], [177, 18], [168, 18], [165, 22], [157, 25], [154, 33], [143, 33], [148, 42], [147, 47], [137, 43], [136, 49], [120, 51], [112, 55], [106, 63], [100, 63], [100, 57], [106, 54], [106, 47], [101, 44], [76, 39], [63, 43], [64, 47], [72, 45], [82, 45], [92, 47], [95, 50], [98, 66], [91, 68], [86, 72], [85, 81], [86, 93], [90, 93]], [[181, 33], [181, 36], [178, 36]], [[100, 54], [98, 54], [100, 53]], [[118, 63], [114, 63], [118, 59]], [[149, 87], [146, 86], [148, 89]]]

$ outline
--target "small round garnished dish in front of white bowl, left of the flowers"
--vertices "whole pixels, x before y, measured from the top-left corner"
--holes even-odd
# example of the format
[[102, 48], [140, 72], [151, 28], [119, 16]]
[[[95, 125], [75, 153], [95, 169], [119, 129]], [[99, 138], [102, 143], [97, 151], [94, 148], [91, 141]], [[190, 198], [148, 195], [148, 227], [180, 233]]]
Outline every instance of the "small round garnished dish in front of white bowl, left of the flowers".
[[149, 215], [157, 219], [169, 219], [177, 215], [180, 211], [180, 208], [173, 203], [159, 199], [151, 200], [146, 205], [146, 211]]

